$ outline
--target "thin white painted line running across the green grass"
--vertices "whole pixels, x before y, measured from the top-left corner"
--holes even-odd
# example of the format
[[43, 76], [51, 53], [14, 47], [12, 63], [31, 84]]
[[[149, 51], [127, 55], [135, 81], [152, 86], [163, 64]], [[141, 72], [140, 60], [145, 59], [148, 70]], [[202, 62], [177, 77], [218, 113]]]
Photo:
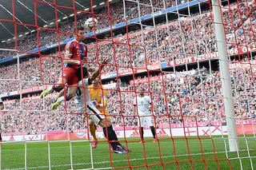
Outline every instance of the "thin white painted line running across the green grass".
[[[246, 149], [244, 150], [240, 150], [240, 151], [247, 151]], [[222, 152], [215, 152], [216, 154], [218, 153], [226, 153], [225, 151]], [[210, 154], [214, 154], [214, 152], [206, 152], [203, 153], [203, 155], [210, 155]], [[124, 154], [125, 155], [125, 154]], [[190, 156], [198, 156], [198, 155], [202, 155], [202, 153], [191, 153]], [[188, 154], [182, 154], [182, 155], [178, 155], [179, 156], [189, 156]], [[170, 157], [174, 157], [174, 156], [162, 156], [162, 158], [170, 158]], [[153, 157], [147, 157], [146, 160], [154, 160], [154, 159], [159, 159], [159, 156], [153, 156]], [[229, 159], [240, 159], [239, 157], [234, 157], [234, 158], [229, 158]], [[130, 161], [138, 161], [138, 160], [144, 160], [144, 158], [134, 158], [134, 159], [130, 159]], [[126, 160], [113, 160], [112, 163], [117, 163], [117, 162], [126, 162]], [[90, 165], [90, 162], [87, 163], [77, 163], [74, 164], [76, 165]], [[110, 164], [110, 160], [105, 160], [105, 161], [100, 161], [100, 162], [94, 162], [94, 164]], [[70, 166], [70, 164], [58, 164], [58, 165], [52, 165], [51, 168], [59, 168], [59, 167], [67, 167]], [[37, 169], [37, 168], [49, 168], [48, 166], [38, 166], [38, 167], [29, 167], [28, 169]], [[8, 169], [3, 169], [3, 170], [23, 170], [25, 168], [8, 168]], [[90, 169], [90, 168], [89, 168]], [[107, 168], [109, 169], [109, 168]]]

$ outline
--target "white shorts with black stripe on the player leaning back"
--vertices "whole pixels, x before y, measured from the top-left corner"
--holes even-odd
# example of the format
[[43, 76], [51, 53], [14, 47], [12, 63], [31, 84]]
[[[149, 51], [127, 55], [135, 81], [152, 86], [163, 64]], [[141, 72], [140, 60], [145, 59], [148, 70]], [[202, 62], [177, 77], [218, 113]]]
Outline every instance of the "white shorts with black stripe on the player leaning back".
[[94, 121], [95, 125], [98, 125], [102, 119], [106, 118], [97, 108], [95, 108], [94, 104], [86, 105], [86, 114], [88, 114], [88, 118], [91, 121]]

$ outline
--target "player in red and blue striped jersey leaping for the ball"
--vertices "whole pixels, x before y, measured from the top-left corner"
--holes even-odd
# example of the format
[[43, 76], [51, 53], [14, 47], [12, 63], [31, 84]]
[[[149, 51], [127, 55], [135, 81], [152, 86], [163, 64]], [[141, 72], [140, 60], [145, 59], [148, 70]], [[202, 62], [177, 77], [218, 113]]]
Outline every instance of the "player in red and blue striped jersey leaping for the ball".
[[68, 42], [65, 46], [65, 57], [63, 58], [64, 69], [63, 77], [59, 78], [58, 82], [52, 87], [42, 91], [40, 97], [46, 97], [48, 94], [53, 93], [54, 91], [60, 92], [64, 85], [74, 85], [69, 88], [70, 93], [65, 96], [66, 101], [69, 101], [76, 90], [78, 89], [79, 78], [78, 73], [81, 73], [82, 70], [85, 70], [85, 67], [82, 67], [86, 61], [87, 57], [87, 46], [82, 42], [84, 39], [85, 29], [82, 26], [78, 26], [78, 34], [75, 35], [74, 40]]

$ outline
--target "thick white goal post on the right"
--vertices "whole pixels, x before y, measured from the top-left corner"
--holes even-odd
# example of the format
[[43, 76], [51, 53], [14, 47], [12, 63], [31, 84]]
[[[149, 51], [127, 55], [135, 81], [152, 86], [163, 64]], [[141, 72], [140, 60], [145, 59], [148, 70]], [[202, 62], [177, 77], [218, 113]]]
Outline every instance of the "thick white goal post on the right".
[[214, 31], [218, 47], [219, 69], [222, 75], [222, 94], [226, 114], [226, 125], [229, 138], [230, 152], [239, 150], [237, 140], [236, 118], [234, 116], [234, 99], [231, 89], [230, 79], [230, 60], [227, 53], [226, 36], [223, 23], [222, 2], [221, 0], [212, 0], [212, 10], [214, 16]]

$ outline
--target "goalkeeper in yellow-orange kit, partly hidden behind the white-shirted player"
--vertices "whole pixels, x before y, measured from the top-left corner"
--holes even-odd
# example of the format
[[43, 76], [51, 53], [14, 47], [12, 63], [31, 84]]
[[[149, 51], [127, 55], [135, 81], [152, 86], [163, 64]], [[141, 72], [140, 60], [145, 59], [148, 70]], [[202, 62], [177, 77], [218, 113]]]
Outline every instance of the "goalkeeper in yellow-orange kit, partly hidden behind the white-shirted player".
[[[108, 110], [106, 109], [107, 105], [107, 91], [106, 89], [100, 85], [99, 79], [96, 78], [92, 85], [88, 86], [90, 93], [90, 100], [93, 101], [94, 106], [98, 111], [105, 115], [107, 121], [110, 121], [110, 117], [108, 116]], [[96, 136], [96, 128], [97, 126], [94, 124], [94, 121], [89, 120], [90, 126], [90, 134], [94, 137], [94, 141], [91, 143], [92, 148], [97, 148], [98, 139]]]

